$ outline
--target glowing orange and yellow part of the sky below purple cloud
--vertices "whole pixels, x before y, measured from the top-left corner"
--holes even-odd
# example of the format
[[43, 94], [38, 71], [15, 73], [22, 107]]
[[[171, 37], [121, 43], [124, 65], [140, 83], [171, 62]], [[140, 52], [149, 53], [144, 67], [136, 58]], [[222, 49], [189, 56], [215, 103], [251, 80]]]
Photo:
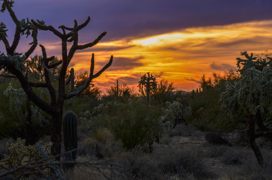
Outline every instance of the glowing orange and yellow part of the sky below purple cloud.
[[[271, 27], [272, 20], [262, 20], [187, 28], [142, 39], [124, 37], [108, 42], [102, 39], [94, 47], [78, 51], [70, 67], [76, 72], [89, 71], [94, 53], [95, 71], [98, 71], [113, 55], [112, 66], [93, 80], [103, 90], [116, 84], [116, 79], [119, 84], [137, 86], [140, 76], [150, 72], [158, 81], [173, 82], [177, 90], [191, 91], [199, 87], [197, 81], [203, 74], [209, 77], [213, 72], [236, 68], [240, 52], [271, 52]], [[60, 41], [39, 43], [47, 51], [61, 48]]]

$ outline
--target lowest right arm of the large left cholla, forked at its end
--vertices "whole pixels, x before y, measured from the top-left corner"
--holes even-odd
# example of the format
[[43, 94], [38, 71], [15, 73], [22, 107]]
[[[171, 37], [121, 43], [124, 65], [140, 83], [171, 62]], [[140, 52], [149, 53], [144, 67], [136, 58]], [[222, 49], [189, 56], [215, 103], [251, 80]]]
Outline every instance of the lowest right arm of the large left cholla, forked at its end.
[[98, 76], [100, 76], [102, 74], [102, 72], [104, 72], [107, 68], [109, 68], [111, 66], [112, 61], [113, 61], [113, 56], [111, 56], [110, 61], [100, 71], [98, 71], [96, 74], [93, 75], [93, 70], [94, 70], [94, 54], [92, 54], [91, 67], [90, 67], [90, 76], [89, 76], [88, 80], [84, 83], [84, 85], [82, 87], [80, 87], [76, 91], [73, 91], [73, 92], [71, 92], [69, 94], [65, 94], [65, 99], [69, 99], [69, 98], [71, 98], [73, 96], [78, 95], [82, 91], [84, 91], [84, 89], [86, 89], [89, 86], [89, 84], [92, 81], [92, 79], [97, 78]]

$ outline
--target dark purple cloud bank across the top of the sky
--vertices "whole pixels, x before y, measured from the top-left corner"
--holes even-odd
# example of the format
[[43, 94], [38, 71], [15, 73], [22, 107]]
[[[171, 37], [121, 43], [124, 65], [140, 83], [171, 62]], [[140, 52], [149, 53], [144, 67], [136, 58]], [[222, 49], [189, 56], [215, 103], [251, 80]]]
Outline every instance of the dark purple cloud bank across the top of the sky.
[[[46, 25], [53, 25], [56, 29], [62, 24], [73, 27], [73, 19], [81, 24], [90, 16], [90, 23], [80, 31], [86, 41], [90, 33], [104, 31], [108, 32], [105, 40], [114, 40], [126, 36], [145, 37], [189, 27], [272, 19], [271, 9], [272, 1], [268, 0], [25, 0], [15, 1], [13, 8], [18, 19], [29, 17], [44, 20]], [[14, 24], [7, 12], [1, 16], [8, 27]]]

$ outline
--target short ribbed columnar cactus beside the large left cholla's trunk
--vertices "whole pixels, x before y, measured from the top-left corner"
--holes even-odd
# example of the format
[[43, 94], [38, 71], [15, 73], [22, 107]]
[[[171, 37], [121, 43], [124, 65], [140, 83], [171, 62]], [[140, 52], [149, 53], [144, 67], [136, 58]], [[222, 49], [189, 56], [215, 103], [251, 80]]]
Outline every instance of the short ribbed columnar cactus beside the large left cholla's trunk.
[[[78, 117], [73, 112], [67, 112], [63, 119], [63, 139], [65, 152], [78, 148]], [[66, 161], [75, 161], [77, 150], [66, 154]], [[72, 169], [74, 164], [67, 164], [65, 169]]]

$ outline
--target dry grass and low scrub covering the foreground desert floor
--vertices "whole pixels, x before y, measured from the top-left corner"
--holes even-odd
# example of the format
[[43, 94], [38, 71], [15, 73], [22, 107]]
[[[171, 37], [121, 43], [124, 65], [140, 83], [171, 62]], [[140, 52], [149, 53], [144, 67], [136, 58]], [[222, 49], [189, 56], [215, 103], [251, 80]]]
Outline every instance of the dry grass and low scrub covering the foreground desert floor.
[[[179, 135], [184, 135], [186, 138]], [[194, 127], [179, 124], [175, 131], [171, 131], [169, 136], [161, 139], [160, 144], [154, 143], [154, 152], [140, 153], [122, 149], [120, 142], [116, 141], [107, 129], [98, 130], [92, 137], [88, 137], [84, 132], [79, 147], [85, 145], [85, 148], [78, 150], [77, 161], [101, 164], [93, 165], [96, 168], [76, 165], [73, 172], [64, 174], [64, 178], [71, 180], [271, 179], [272, 151], [268, 149], [265, 139], [257, 142], [267, 163], [266, 168], [261, 168], [250, 147], [210, 145], [205, 141], [204, 136], [205, 133], [196, 131]], [[181, 140], [177, 141], [179, 138]], [[48, 137], [44, 139], [46, 140]], [[0, 142], [0, 150], [5, 148], [4, 144], [4, 141]], [[109, 164], [105, 163], [108, 160], [113, 161]]]

